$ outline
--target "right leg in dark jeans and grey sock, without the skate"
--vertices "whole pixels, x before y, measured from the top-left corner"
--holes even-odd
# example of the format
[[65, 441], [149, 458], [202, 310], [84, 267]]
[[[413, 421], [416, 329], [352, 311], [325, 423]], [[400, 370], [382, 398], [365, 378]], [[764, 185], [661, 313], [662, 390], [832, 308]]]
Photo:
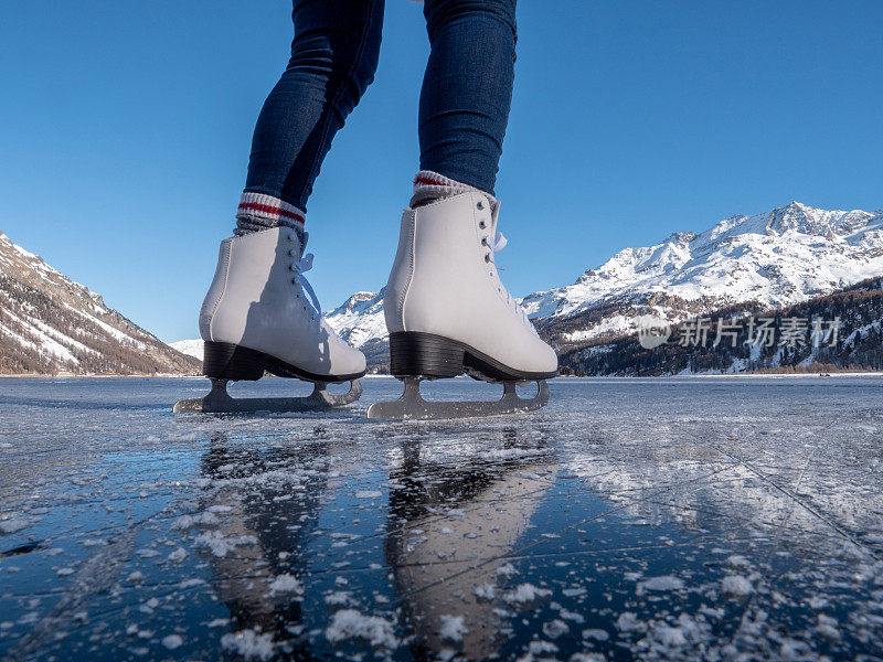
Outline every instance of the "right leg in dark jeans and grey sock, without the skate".
[[493, 195], [512, 102], [515, 0], [426, 0], [424, 14], [432, 52], [415, 190], [423, 200], [456, 184]]

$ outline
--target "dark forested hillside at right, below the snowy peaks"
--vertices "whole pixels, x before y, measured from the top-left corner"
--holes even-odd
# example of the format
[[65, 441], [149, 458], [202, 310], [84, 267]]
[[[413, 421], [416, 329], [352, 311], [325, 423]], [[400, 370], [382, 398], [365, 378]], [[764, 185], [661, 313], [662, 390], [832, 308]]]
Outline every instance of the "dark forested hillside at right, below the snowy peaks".
[[[735, 306], [705, 319], [704, 334], [696, 319], [685, 320], [670, 327], [666, 343], [649, 349], [637, 333], [561, 344], [561, 372], [656, 376], [883, 370], [881, 278], [792, 306]], [[764, 323], [770, 331], [762, 337]]]

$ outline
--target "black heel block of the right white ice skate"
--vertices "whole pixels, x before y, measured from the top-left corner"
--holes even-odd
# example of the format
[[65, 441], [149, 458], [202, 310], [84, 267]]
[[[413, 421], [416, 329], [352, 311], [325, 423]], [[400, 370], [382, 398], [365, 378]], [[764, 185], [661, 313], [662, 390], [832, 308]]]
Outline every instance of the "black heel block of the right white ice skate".
[[390, 372], [396, 377], [456, 377], [462, 373], [465, 350], [432, 333], [390, 334]]

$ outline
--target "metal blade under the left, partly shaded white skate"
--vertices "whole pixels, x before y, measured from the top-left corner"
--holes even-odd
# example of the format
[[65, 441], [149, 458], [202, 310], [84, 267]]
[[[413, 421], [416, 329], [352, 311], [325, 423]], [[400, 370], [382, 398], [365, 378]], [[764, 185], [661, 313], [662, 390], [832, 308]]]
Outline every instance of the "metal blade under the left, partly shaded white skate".
[[358, 401], [362, 395], [362, 383], [350, 382], [350, 389], [342, 395], [326, 391], [328, 385], [316, 382], [312, 393], [305, 397], [245, 397], [235, 398], [227, 393], [226, 380], [212, 380], [212, 389], [205, 397], [174, 403], [174, 414], [256, 414], [326, 412]]

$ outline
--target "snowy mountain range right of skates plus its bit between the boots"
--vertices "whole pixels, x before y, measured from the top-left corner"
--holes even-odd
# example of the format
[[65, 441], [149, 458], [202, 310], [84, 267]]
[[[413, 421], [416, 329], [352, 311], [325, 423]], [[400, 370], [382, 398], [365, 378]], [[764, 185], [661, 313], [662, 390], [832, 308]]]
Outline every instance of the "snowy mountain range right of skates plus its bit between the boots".
[[[566, 343], [628, 333], [639, 314], [679, 321], [736, 303], [779, 308], [881, 275], [883, 211], [792, 202], [625, 248], [573, 285], [524, 297], [522, 306], [549, 338]], [[381, 351], [382, 293], [359, 292], [327, 317], [354, 346]]]

